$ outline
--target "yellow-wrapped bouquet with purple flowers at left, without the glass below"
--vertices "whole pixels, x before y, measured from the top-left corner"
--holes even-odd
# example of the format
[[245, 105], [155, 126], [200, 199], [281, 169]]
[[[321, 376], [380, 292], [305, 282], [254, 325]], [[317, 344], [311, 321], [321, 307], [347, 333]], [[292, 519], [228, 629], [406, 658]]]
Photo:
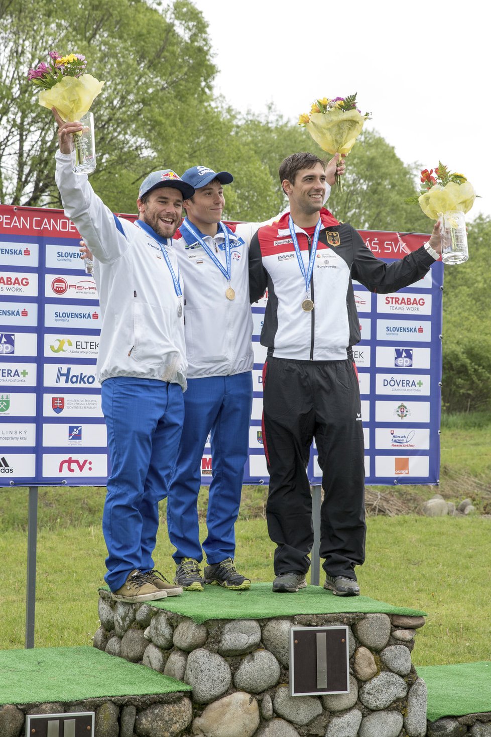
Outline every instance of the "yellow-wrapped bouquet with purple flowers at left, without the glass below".
[[85, 74], [87, 61], [82, 54], [61, 56], [49, 52], [49, 63], [29, 69], [27, 79], [42, 88], [38, 102], [44, 108], [56, 108], [64, 120], [78, 120], [91, 108], [104, 82]]

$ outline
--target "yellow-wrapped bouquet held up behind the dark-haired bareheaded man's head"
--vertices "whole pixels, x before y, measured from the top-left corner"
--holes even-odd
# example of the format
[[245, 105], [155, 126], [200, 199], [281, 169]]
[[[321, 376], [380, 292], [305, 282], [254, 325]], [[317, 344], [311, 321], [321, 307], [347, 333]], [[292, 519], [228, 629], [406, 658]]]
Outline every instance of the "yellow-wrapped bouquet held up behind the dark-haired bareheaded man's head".
[[[303, 113], [298, 125], [307, 128], [315, 142], [328, 153], [339, 156], [350, 153], [370, 113], [361, 114], [356, 107], [356, 93], [347, 97], [322, 97], [312, 103], [310, 113]], [[341, 192], [345, 188], [336, 175]]]

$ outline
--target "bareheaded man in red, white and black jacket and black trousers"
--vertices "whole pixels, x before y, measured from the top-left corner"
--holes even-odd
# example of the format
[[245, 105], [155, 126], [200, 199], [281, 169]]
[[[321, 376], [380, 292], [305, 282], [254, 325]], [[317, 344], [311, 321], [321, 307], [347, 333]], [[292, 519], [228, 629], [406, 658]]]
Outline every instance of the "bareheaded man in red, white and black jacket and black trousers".
[[305, 587], [314, 534], [305, 468], [315, 438], [325, 497], [320, 556], [324, 587], [358, 595], [364, 562], [364, 443], [352, 346], [360, 340], [352, 279], [392, 293], [421, 279], [439, 258], [439, 223], [428, 243], [387, 265], [358, 232], [322, 207], [325, 163], [295, 153], [280, 166], [291, 217], [260, 228], [250, 245], [250, 300], [268, 289], [261, 344], [263, 439], [269, 472], [273, 591]]

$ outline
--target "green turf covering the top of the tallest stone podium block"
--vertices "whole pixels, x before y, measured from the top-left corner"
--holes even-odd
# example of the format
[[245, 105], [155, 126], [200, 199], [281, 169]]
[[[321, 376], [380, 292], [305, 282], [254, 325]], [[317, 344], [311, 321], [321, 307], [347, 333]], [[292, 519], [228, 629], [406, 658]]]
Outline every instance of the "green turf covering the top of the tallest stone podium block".
[[[102, 590], [109, 589], [102, 587]], [[420, 616], [426, 613], [420, 609], [394, 607], [368, 596], [335, 596], [322, 586], [307, 586], [294, 594], [278, 594], [272, 592], [271, 584], [252, 584], [248, 591], [205, 586], [204, 591], [184, 591], [180, 596], [168, 596], [151, 604], [152, 607], [190, 617], [198, 624], [208, 619], [268, 619], [298, 614], [384, 612]]]

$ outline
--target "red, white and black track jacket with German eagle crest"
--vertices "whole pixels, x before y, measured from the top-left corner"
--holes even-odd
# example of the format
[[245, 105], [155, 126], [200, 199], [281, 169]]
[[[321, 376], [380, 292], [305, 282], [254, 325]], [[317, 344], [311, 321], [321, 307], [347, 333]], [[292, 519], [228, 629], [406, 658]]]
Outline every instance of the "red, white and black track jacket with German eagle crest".
[[[422, 279], [434, 262], [424, 245], [403, 259], [377, 259], [348, 223], [320, 212], [319, 233], [309, 296], [314, 310], [304, 312], [305, 279], [288, 227], [289, 214], [259, 228], [249, 252], [250, 301], [268, 290], [261, 344], [269, 355], [292, 360], [342, 360], [361, 339], [352, 279], [371, 292], [391, 293]], [[305, 273], [314, 228], [295, 226]]]

